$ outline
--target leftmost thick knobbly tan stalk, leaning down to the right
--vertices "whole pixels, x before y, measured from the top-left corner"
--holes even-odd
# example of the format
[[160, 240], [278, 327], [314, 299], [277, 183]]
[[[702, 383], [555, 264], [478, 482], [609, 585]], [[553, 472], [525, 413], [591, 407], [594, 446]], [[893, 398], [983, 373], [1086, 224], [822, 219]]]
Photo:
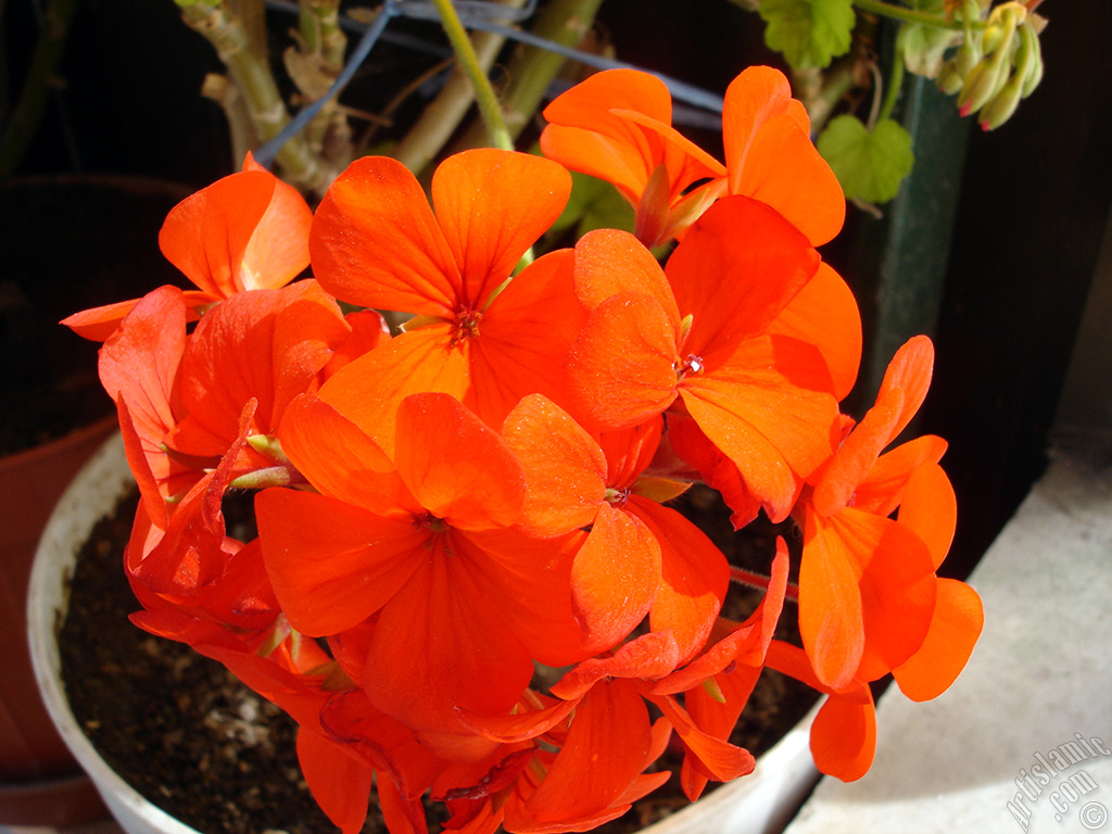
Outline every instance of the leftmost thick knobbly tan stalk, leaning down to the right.
[[[231, 80], [244, 96], [258, 136], [262, 140], [274, 138], [289, 121], [289, 113], [270, 68], [266, 61], [259, 60], [239, 20], [224, 4], [186, 6], [181, 16], [216, 48]], [[301, 137], [286, 142], [276, 161], [285, 172], [285, 179], [305, 190], [322, 192], [336, 176], [330, 166], [314, 157]]]

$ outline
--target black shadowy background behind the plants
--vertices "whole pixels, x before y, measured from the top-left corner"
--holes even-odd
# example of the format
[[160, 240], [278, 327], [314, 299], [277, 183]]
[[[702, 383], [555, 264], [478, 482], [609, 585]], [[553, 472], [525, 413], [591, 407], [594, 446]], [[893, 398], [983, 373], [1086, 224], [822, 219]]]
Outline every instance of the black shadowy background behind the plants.
[[[0, 112], [36, 32], [30, 0], [2, 8]], [[959, 127], [970, 132], [967, 153], [933, 326], [935, 381], [917, 426], [951, 444], [943, 463], [960, 506], [952, 575], [967, 573], [1045, 466], [1112, 202], [1112, 3], [1046, 0], [1040, 11], [1050, 19], [1042, 86], [997, 131]], [[718, 92], [745, 66], [774, 61], [756, 16], [727, 0], [606, 0], [599, 24], [618, 57]], [[219, 69], [171, 0], [82, 0], [59, 93], [20, 173], [207, 185], [234, 166], [221, 112], [197, 93], [205, 72]], [[845, 236], [867, 240], [883, 222], [851, 212]], [[827, 257], [872, 310], [868, 259], [852, 247]]]

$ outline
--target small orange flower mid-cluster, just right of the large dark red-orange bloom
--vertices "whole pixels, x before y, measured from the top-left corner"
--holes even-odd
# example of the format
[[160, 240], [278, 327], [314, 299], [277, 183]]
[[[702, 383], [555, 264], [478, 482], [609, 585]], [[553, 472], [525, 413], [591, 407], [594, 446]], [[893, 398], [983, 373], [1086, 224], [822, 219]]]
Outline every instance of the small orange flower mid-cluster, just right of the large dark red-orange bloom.
[[682, 663], [709, 634], [729, 567], [702, 530], [658, 503], [687, 484], [642, 477], [661, 429], [656, 418], [596, 440], [534, 395], [510, 411], [503, 433], [525, 471], [526, 526], [544, 535], [590, 530], [572, 568], [587, 648], [612, 648], [647, 614], [654, 632], [672, 635]]

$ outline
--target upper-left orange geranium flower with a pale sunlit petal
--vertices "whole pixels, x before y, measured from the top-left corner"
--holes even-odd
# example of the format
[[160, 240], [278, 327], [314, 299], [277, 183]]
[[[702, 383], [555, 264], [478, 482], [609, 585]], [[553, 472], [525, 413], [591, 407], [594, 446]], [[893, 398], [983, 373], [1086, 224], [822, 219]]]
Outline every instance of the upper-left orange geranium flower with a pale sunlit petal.
[[[312, 212], [297, 189], [258, 165], [217, 180], [166, 217], [162, 255], [192, 281], [186, 306], [200, 310], [251, 289], [285, 287], [309, 264]], [[62, 321], [79, 336], [103, 341], [138, 299], [77, 312]]]

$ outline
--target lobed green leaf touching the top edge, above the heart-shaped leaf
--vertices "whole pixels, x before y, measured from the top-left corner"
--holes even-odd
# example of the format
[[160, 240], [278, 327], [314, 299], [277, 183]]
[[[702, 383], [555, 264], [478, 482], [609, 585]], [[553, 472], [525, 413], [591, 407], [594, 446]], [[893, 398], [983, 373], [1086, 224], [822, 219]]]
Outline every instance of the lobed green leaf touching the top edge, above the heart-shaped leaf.
[[793, 69], [823, 69], [850, 51], [853, 0], [763, 0], [765, 43]]

